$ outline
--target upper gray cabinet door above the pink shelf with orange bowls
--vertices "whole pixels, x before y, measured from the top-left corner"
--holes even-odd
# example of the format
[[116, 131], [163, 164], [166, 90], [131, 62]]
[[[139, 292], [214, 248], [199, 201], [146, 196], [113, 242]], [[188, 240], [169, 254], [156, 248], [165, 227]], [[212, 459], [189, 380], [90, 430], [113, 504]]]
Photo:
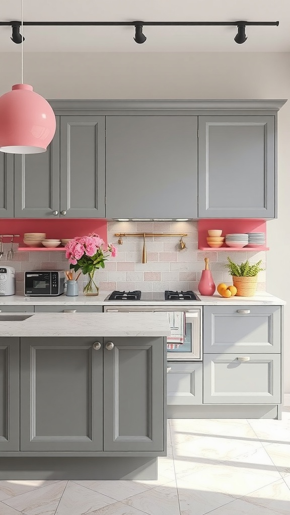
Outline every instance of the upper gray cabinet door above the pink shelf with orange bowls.
[[199, 116], [199, 218], [273, 218], [275, 117]]

